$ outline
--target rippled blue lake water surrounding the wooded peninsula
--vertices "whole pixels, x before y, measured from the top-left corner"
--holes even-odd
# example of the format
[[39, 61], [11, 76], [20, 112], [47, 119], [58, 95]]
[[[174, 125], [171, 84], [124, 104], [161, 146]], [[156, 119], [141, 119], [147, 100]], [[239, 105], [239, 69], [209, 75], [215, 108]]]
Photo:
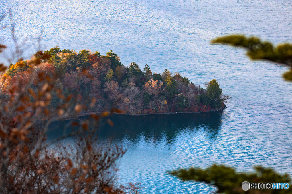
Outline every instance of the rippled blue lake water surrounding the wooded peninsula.
[[[141, 181], [143, 193], [211, 193], [214, 187], [181, 182], [166, 171], [214, 162], [239, 171], [264, 165], [292, 175], [292, 83], [281, 78], [287, 68], [209, 43], [228, 33], [292, 42], [291, 1], [0, 0], [0, 7], [1, 13], [12, 8], [16, 36], [20, 43], [26, 40], [25, 58], [38, 49], [41, 35], [41, 49], [59, 45], [101, 54], [112, 49], [124, 65], [147, 63], [152, 72], [167, 68], [201, 86], [215, 78], [232, 96], [218, 115], [185, 121], [167, 116], [155, 125], [150, 118], [125, 118], [128, 122], [109, 130], [106, 136], [128, 148], [119, 165], [121, 183]], [[1, 24], [0, 43], [13, 51], [10, 22]], [[8, 64], [4, 55], [9, 53], [0, 61]]]

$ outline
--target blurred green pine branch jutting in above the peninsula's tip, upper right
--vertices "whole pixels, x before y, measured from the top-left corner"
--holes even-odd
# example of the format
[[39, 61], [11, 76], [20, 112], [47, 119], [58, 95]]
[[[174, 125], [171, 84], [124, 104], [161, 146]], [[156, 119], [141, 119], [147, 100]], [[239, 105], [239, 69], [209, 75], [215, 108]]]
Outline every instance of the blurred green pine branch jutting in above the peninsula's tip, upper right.
[[263, 42], [257, 37], [244, 35], [227, 35], [211, 41], [212, 44], [223, 43], [248, 49], [247, 56], [252, 60], [268, 60], [290, 68], [283, 74], [284, 79], [292, 81], [292, 44], [283, 43], [274, 47], [270, 42]]

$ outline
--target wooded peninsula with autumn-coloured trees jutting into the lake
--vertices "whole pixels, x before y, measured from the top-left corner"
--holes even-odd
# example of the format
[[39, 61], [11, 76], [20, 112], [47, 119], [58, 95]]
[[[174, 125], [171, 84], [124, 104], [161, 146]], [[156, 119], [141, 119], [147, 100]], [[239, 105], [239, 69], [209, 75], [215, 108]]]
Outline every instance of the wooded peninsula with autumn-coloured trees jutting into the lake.
[[[34, 65], [37, 61], [38, 65]], [[206, 89], [196, 86], [180, 73], [167, 69], [152, 73], [148, 65], [142, 70], [132, 62], [125, 67], [112, 50], [101, 56], [99, 52], [54, 47], [39, 51], [30, 60], [10, 64], [1, 74], [1, 95], [5, 98], [31, 84], [32, 72], [44, 72], [55, 77], [58, 92], [52, 92], [50, 106], [73, 94], [79, 104], [88, 108], [81, 113], [99, 113], [117, 108], [124, 114], [199, 113], [223, 110], [230, 96], [222, 95], [216, 79]], [[33, 95], [33, 94], [31, 94]]]

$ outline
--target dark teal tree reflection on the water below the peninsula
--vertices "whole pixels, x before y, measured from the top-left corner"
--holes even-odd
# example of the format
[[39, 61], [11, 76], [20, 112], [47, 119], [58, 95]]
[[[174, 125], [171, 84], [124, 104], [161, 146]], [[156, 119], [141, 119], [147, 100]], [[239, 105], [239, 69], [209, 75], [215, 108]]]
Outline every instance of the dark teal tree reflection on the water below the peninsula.
[[[203, 130], [206, 136], [215, 140], [221, 129], [222, 112], [205, 114], [165, 114], [165, 115], [113, 115], [110, 119], [114, 126], [104, 124], [98, 133], [99, 138], [112, 138], [119, 140], [128, 138], [133, 143], [138, 142], [141, 136], [156, 142], [165, 139], [172, 143], [180, 132], [196, 132]], [[89, 116], [79, 117], [85, 120]], [[48, 138], [54, 139], [62, 136], [63, 127], [72, 120], [62, 120], [51, 123]]]

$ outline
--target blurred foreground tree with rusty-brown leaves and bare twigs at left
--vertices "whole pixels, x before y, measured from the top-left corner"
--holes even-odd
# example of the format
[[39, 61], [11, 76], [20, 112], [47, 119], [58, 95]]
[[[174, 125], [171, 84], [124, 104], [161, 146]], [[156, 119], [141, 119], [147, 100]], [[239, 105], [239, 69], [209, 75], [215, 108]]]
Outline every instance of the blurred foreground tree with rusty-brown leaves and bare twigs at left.
[[[116, 182], [116, 161], [125, 151], [110, 143], [96, 144], [100, 122], [112, 124], [109, 112], [64, 126], [61, 139], [78, 137], [76, 150], [57, 146], [58, 152], [52, 152], [48, 146], [60, 139], [46, 142], [49, 124], [76, 118], [87, 107], [73, 95], [65, 96], [56, 84], [60, 81], [46, 70], [27, 68], [13, 79], [19, 76], [21, 81], [9, 88], [8, 97], [0, 96], [0, 193], [139, 193], [139, 184], [125, 187]], [[51, 106], [53, 93], [57, 106]]]

